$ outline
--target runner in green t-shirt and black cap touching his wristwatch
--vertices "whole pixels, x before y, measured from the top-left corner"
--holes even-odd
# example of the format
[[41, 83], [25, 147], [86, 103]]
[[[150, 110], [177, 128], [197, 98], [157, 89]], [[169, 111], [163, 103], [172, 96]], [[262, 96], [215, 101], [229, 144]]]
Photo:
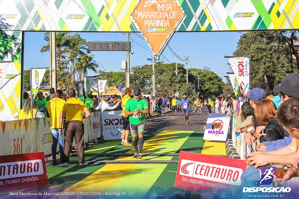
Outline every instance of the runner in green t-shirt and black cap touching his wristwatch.
[[[145, 99], [141, 99], [141, 90], [135, 88], [133, 90], [134, 98], [129, 99], [126, 103], [125, 114], [129, 115], [130, 131], [132, 135], [132, 143], [135, 149], [133, 158], [141, 158], [141, 150], [144, 144], [143, 133], [145, 127], [145, 114], [149, 112], [149, 107]], [[138, 145], [137, 145], [138, 136]]]

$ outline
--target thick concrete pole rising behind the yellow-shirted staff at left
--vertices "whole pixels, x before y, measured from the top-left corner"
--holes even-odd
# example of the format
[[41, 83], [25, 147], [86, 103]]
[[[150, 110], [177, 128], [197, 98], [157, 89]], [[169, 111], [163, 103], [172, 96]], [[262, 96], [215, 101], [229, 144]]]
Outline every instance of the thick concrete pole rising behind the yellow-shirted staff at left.
[[57, 90], [56, 32], [50, 32], [50, 87]]

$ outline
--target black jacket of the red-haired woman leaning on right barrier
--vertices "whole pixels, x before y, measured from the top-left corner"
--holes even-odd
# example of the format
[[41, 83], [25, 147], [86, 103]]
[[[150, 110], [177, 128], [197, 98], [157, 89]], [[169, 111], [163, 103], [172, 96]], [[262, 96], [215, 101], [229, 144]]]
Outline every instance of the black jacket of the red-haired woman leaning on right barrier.
[[266, 136], [260, 136], [260, 142], [276, 141], [289, 136], [289, 133], [285, 129], [283, 129], [283, 127], [278, 123], [276, 119], [271, 119], [266, 128], [263, 129], [263, 132], [266, 133]]

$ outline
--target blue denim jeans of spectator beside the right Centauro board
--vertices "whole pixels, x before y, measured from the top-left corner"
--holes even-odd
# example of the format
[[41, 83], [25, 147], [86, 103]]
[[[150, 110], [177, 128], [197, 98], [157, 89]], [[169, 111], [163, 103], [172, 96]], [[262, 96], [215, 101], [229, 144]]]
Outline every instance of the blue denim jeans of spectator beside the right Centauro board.
[[258, 187], [260, 182], [260, 169], [250, 166], [241, 175], [241, 182], [243, 187]]

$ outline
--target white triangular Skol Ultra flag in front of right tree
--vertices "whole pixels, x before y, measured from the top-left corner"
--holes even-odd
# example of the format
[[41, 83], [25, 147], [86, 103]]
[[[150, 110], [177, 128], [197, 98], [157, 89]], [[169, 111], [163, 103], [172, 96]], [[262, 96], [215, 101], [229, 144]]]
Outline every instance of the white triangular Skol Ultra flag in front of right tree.
[[249, 57], [228, 57], [239, 85], [244, 89], [247, 95], [250, 87], [250, 58]]

